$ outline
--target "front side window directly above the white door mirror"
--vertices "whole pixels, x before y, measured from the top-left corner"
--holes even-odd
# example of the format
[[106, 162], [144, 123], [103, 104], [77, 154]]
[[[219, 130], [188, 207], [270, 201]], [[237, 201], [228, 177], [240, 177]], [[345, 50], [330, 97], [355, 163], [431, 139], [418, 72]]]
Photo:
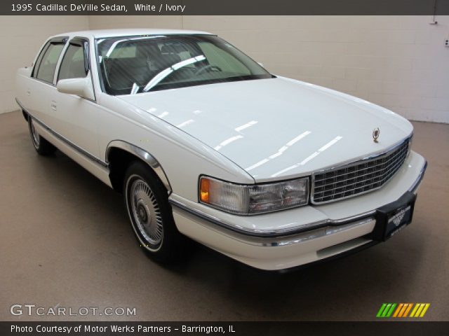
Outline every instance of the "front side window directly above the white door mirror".
[[81, 45], [70, 44], [62, 59], [58, 80], [86, 77], [88, 69], [84, 55]]

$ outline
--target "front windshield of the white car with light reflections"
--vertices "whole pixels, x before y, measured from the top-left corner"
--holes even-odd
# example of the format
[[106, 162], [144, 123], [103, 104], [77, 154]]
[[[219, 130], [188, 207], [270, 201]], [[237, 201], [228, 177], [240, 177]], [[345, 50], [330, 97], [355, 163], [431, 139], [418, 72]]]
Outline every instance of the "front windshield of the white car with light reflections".
[[113, 95], [273, 77], [217, 36], [114, 37], [96, 43], [102, 87]]

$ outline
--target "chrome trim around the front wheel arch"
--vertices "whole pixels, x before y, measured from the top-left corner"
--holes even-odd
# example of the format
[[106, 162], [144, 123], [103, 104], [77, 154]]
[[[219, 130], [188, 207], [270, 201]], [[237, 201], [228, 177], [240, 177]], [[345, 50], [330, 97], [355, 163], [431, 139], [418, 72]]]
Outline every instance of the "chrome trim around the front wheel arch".
[[126, 151], [126, 152], [134, 155], [136, 158], [139, 158], [143, 162], [147, 163], [147, 165], [149, 165], [149, 167], [151, 167], [153, 172], [159, 177], [159, 179], [163, 183], [163, 186], [165, 186], [166, 189], [168, 190], [168, 195], [171, 194], [172, 189], [170, 186], [170, 182], [168, 181], [166, 172], [164, 172], [161, 164], [159, 163], [158, 160], [156, 160], [156, 158], [154, 158], [154, 156], [152, 154], [145, 151], [145, 149], [142, 149], [138, 146], [130, 144], [129, 142], [126, 142], [123, 140], [113, 140], [113, 141], [109, 142], [109, 144], [107, 144], [107, 148], [106, 148], [105, 160], [108, 165], [110, 164], [109, 155], [110, 155], [112, 149], [114, 149], [114, 148], [119, 148], [123, 151]]

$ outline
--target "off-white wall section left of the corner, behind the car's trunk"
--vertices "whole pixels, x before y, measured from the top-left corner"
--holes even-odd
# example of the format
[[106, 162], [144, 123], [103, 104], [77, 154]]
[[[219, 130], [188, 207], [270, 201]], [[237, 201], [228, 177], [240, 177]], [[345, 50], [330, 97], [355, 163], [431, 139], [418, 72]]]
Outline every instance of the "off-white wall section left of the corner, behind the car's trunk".
[[18, 109], [15, 71], [31, 65], [48, 36], [88, 29], [87, 16], [0, 16], [0, 113]]

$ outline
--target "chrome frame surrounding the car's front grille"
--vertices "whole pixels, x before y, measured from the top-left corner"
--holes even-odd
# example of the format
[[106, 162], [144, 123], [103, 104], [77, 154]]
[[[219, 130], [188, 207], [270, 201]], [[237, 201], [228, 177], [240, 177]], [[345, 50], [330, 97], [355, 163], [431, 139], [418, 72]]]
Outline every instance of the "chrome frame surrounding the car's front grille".
[[371, 192], [373, 192], [375, 190], [379, 190], [380, 188], [385, 186], [385, 184], [387, 184], [388, 181], [390, 181], [394, 177], [394, 175], [396, 175], [398, 173], [399, 169], [392, 176], [390, 176], [389, 179], [387, 181], [385, 181], [384, 184], [382, 184], [382, 186], [379, 186], [377, 188], [366, 190], [366, 191], [363, 191], [362, 193], [356, 193], [354, 195], [349, 195], [349, 196], [345, 196], [345, 197], [339, 197], [339, 198], [337, 198], [335, 200], [328, 200], [328, 201], [323, 201], [323, 202], [315, 202], [314, 201], [315, 175], [316, 174], [323, 174], [323, 173], [328, 173], [328, 172], [334, 172], [335, 170], [339, 170], [339, 169], [342, 169], [342, 168], [349, 168], [349, 167], [354, 167], [356, 165], [360, 165], [360, 164], [363, 163], [363, 161], [377, 160], [377, 159], [384, 158], [384, 157], [388, 156], [391, 152], [393, 152], [396, 148], [401, 147], [406, 142], [409, 143], [408, 153], [406, 155], [406, 158], [407, 158], [408, 155], [410, 154], [410, 141], [411, 141], [412, 138], [413, 138], [413, 133], [410, 134], [406, 139], [403, 139], [400, 142], [398, 142], [398, 144], [395, 144], [394, 146], [391, 146], [391, 147], [387, 148], [384, 151], [380, 151], [378, 153], [373, 153], [373, 154], [370, 154], [368, 156], [363, 156], [363, 157], [360, 157], [360, 158], [357, 158], [357, 159], [354, 159], [354, 160], [349, 160], [349, 161], [344, 162], [344, 163], [342, 163], [342, 164], [340, 164], [338, 166], [330, 167], [330, 168], [327, 168], [327, 169], [321, 169], [321, 170], [317, 170], [317, 171], [313, 172], [311, 174], [311, 186], [310, 186], [310, 198], [309, 198], [310, 203], [314, 204], [314, 205], [328, 204], [328, 203], [338, 202], [338, 201], [341, 201], [341, 200], [347, 200], [348, 198], [351, 198], [351, 197], [356, 197], [356, 196], [364, 195], [364, 194], [367, 194], [367, 193], [371, 193]]

